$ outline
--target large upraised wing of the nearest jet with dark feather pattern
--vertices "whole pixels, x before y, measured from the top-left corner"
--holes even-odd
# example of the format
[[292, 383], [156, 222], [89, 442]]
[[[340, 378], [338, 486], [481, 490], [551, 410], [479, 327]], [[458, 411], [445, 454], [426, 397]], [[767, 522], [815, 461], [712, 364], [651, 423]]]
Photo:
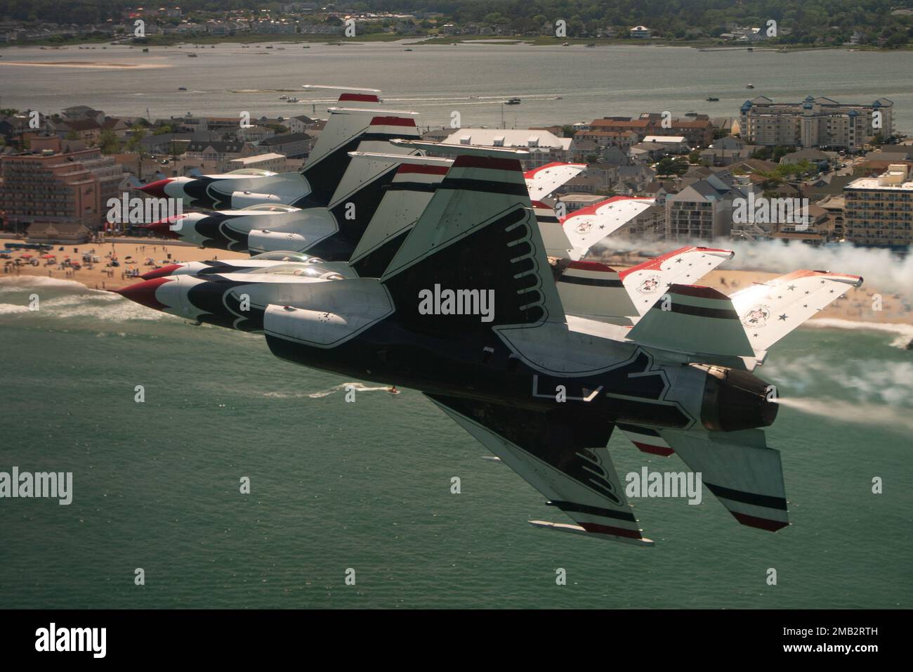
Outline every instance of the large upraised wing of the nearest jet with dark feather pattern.
[[[430, 143], [404, 144], [424, 148]], [[447, 333], [544, 321], [563, 324], [564, 310], [519, 164], [526, 152], [430, 145], [438, 154], [456, 155], [456, 161], [383, 273], [397, 315], [417, 330]], [[439, 306], [432, 315], [425, 301], [429, 293]], [[490, 314], [481, 320], [472, 311], [466, 315], [462, 308], [472, 297], [493, 302]]]

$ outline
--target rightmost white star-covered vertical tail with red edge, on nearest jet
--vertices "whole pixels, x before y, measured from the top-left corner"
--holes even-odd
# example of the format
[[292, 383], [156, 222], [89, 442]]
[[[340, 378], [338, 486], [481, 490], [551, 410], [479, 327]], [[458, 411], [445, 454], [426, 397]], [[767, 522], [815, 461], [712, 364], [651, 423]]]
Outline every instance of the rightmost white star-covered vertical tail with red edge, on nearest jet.
[[858, 275], [826, 271], [793, 271], [766, 283], [746, 287], [729, 299], [745, 327], [751, 347], [769, 349], [815, 313], [862, 284]]

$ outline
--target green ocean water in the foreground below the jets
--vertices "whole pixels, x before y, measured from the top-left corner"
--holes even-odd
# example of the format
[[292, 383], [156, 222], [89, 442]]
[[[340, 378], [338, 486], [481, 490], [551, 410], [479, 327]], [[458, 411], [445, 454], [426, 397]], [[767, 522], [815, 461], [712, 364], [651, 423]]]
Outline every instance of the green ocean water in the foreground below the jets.
[[[260, 336], [3, 279], [0, 470], [72, 471], [74, 496], [0, 499], [0, 605], [909, 607], [905, 340], [832, 325], [771, 351], [761, 375], [791, 400], [767, 430], [791, 527], [744, 528], [705, 489], [699, 506], [636, 500], [656, 541], [638, 548], [530, 527], [566, 521], [414, 390], [346, 403], [357, 381], [280, 361]], [[610, 449], [621, 474], [685, 469], [620, 433]]]

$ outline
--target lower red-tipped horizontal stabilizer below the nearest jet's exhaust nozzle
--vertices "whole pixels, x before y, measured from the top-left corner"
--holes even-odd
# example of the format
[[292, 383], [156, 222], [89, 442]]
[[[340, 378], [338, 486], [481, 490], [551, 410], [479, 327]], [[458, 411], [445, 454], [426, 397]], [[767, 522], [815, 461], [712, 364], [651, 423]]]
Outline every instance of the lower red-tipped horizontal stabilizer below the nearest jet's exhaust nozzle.
[[780, 451], [765, 446], [763, 432], [659, 433], [742, 525], [775, 532], [790, 524]]

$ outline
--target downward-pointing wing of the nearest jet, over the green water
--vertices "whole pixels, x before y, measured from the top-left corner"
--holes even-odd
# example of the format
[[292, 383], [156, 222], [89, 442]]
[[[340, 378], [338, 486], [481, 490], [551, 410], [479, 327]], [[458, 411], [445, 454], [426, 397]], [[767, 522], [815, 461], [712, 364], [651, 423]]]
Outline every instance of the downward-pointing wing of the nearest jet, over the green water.
[[638, 544], [644, 539], [605, 447], [613, 425], [566, 409], [527, 411], [487, 401], [427, 395], [478, 442], [577, 523], [537, 527]]

